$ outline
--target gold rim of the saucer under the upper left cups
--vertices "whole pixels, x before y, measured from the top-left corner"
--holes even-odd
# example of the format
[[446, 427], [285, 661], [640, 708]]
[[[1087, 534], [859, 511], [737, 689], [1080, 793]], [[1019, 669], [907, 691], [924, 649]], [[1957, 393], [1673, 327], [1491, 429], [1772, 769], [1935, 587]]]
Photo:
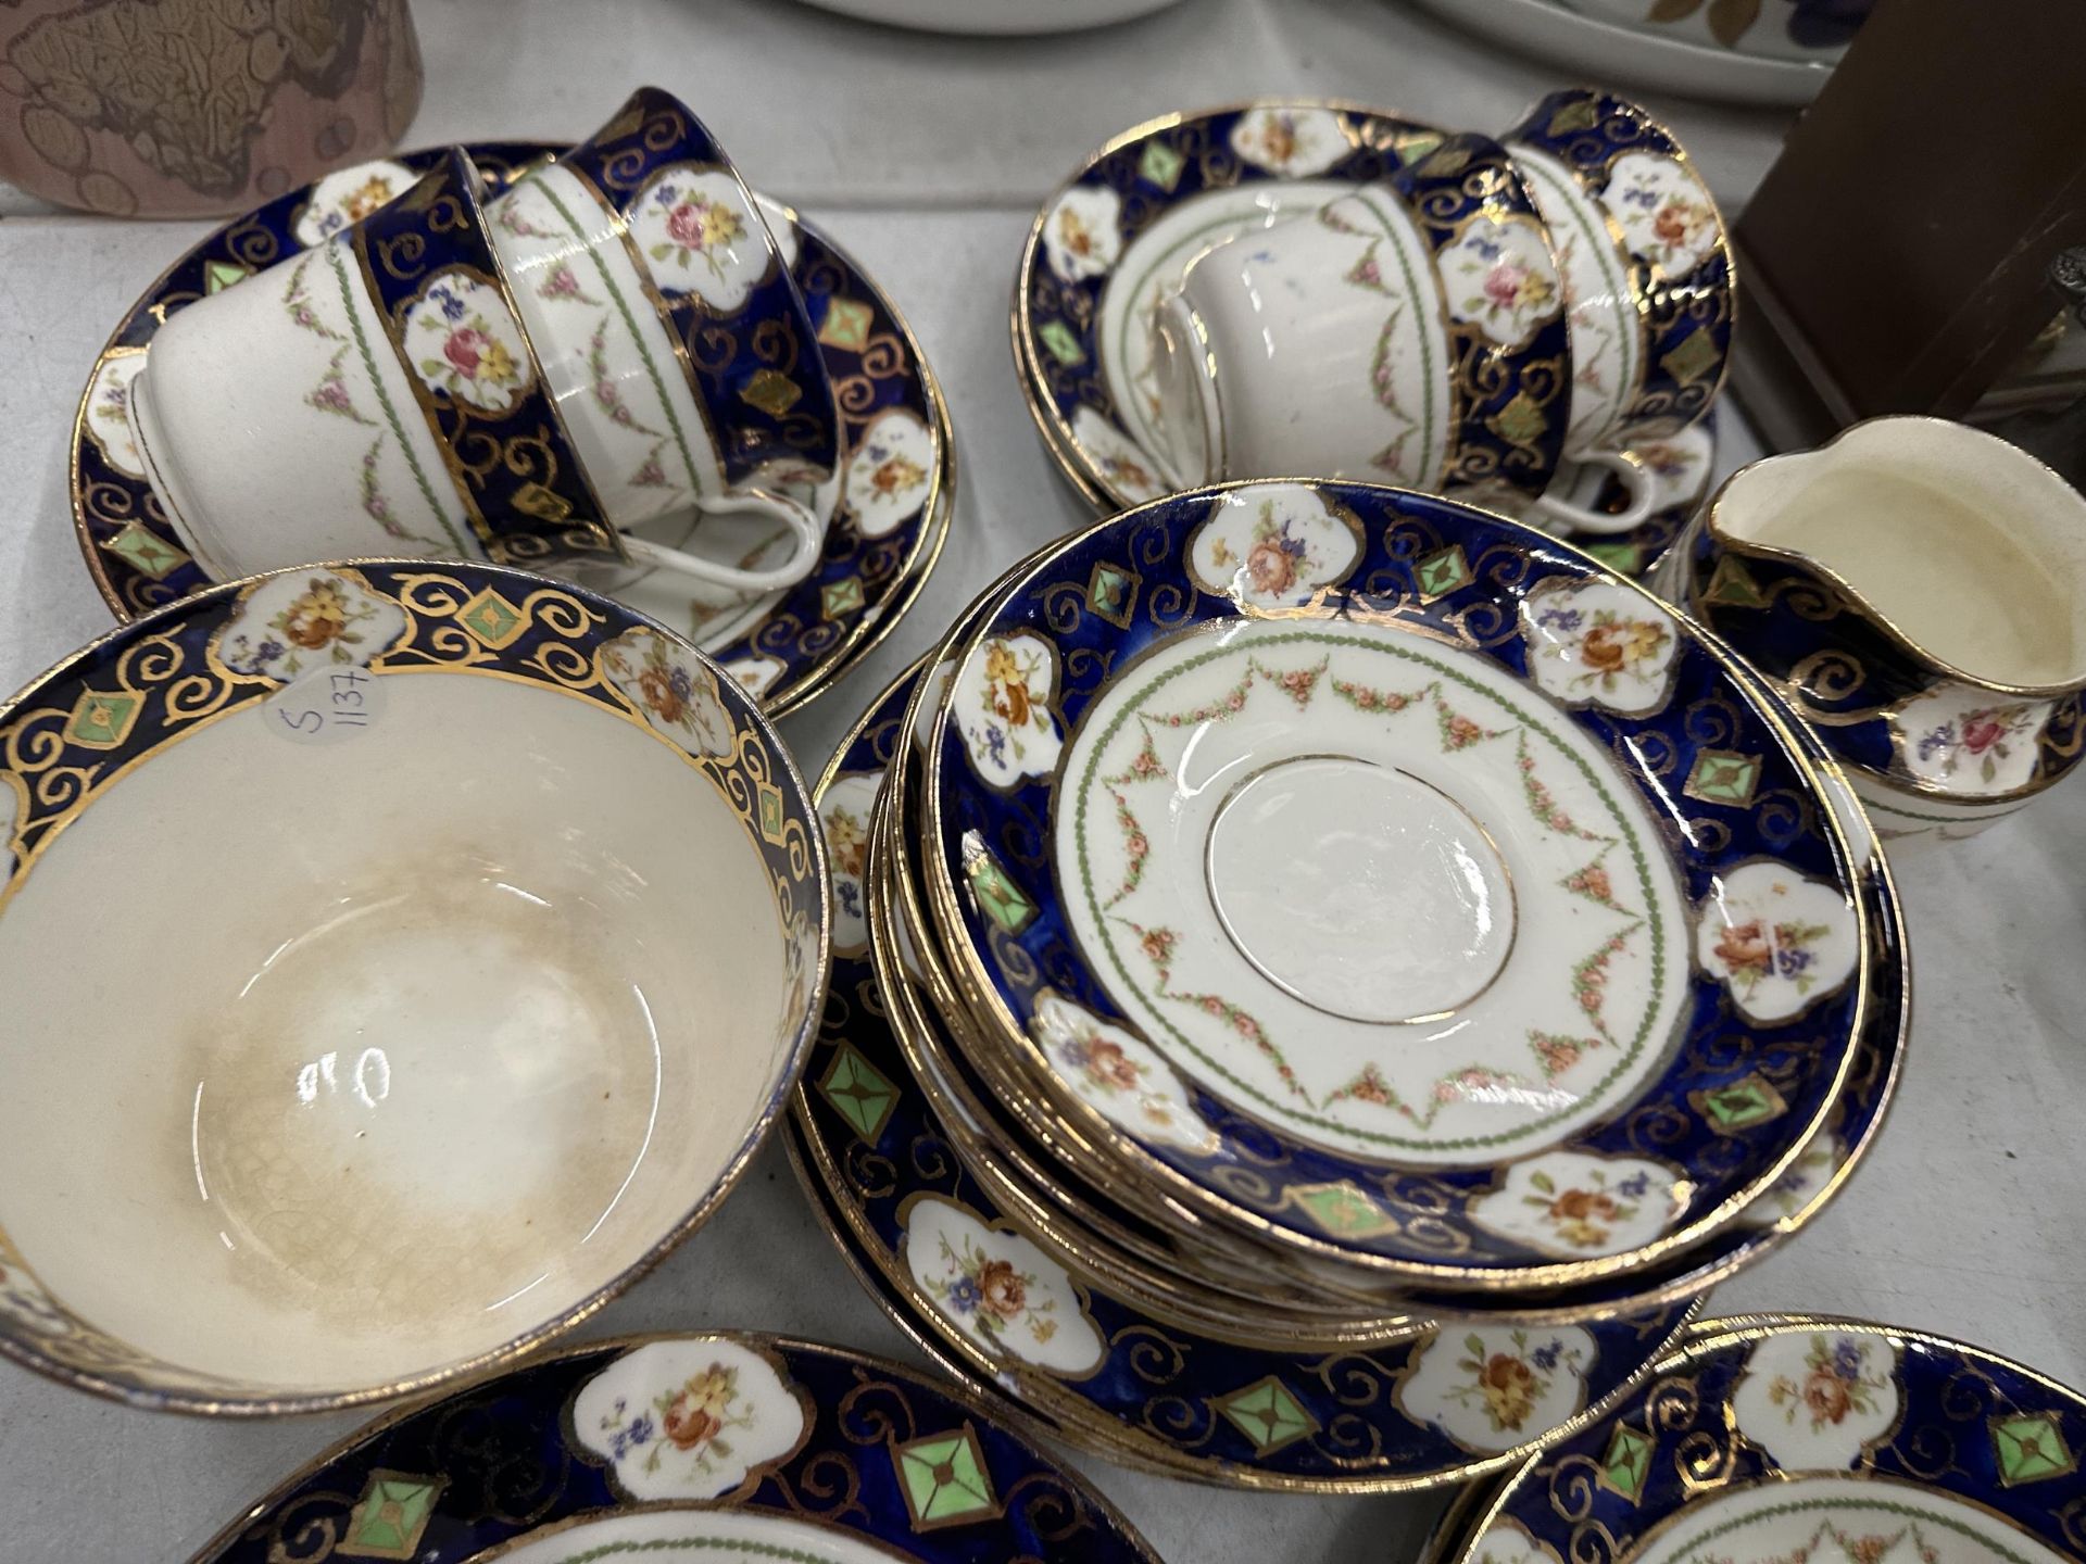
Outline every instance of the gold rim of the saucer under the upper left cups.
[[[559, 152], [569, 150], [567, 142], [513, 142], [511, 146], [540, 148], [536, 158], [538, 163], [542, 158], [555, 161]], [[440, 150], [442, 150], [440, 146], [423, 146], [411, 152], [392, 152], [390, 158], [403, 161], [403, 158], [428, 156]], [[465, 154], [469, 154], [471, 144], [465, 144], [463, 150]], [[759, 198], [755, 200], [759, 202]], [[926, 578], [935, 573], [935, 565], [941, 561], [943, 544], [949, 538], [949, 523], [955, 513], [957, 455], [955, 455], [955, 427], [949, 417], [949, 398], [943, 392], [941, 380], [935, 375], [935, 369], [926, 359], [926, 350], [920, 346], [920, 338], [914, 332], [912, 321], [905, 319], [903, 311], [899, 311], [897, 302], [882, 290], [882, 286], [868, 271], [862, 269], [862, 263], [857, 263], [855, 256], [845, 246], [834, 242], [820, 225], [805, 221], [805, 217], [786, 202], [770, 198], [768, 204], [786, 213], [789, 219], [797, 223], [799, 229], [811, 234], [822, 246], [832, 250], [832, 254], [839, 256], [847, 265], [847, 269], [862, 279], [862, 286], [868, 288], [876, 296], [876, 302], [891, 315], [891, 323], [897, 327], [899, 338], [903, 338], [905, 342], [907, 355], [912, 357], [914, 365], [920, 371], [920, 386], [926, 396], [930, 413], [928, 423], [935, 432], [935, 444], [939, 450], [939, 461], [932, 482], [928, 486], [928, 496], [920, 505], [920, 517], [922, 517], [920, 536], [914, 540], [912, 551], [899, 563], [897, 582], [891, 588], [891, 596], [884, 598], [884, 603], [880, 605], [882, 611], [874, 617], [874, 621], [857, 617], [855, 626], [845, 636], [841, 636], [841, 640], [828, 646], [820, 657], [811, 659], [811, 663], [803, 669], [803, 674], [789, 688], [784, 688], [778, 699], [768, 701], [763, 697], [755, 701], [755, 705], [759, 705], [766, 717], [780, 719], [795, 711], [801, 711], [816, 697], [824, 694], [828, 688], [839, 684], [841, 678], [855, 667], [855, 663], [859, 663], [864, 657], [876, 651], [878, 644], [882, 644], [882, 640], [891, 634], [891, 630], [897, 628], [899, 619], [903, 619], [905, 613], [920, 598], [920, 590], [926, 586]], [[232, 221], [236, 223], [242, 219], [232, 219]], [[131, 607], [123, 601], [123, 594], [117, 590], [115, 582], [108, 578], [108, 571], [104, 569], [100, 548], [96, 546], [92, 534], [88, 532], [88, 515], [86, 515], [81, 473], [79, 473], [79, 448], [81, 442], [88, 438], [94, 438], [98, 442], [98, 436], [94, 436], [94, 432], [88, 427], [88, 415], [94, 402], [94, 386], [100, 380], [102, 369], [108, 365], [111, 359], [144, 355], [150, 348], [150, 342], [146, 342], [144, 346], [119, 346], [117, 338], [123, 334], [129, 321], [140, 313], [144, 300], [152, 298], [154, 294], [161, 294], [167, 288], [169, 277], [173, 277], [175, 271], [188, 265], [204, 244], [223, 234], [225, 227], [229, 227], [229, 223], [221, 223], [217, 229], [213, 229], [213, 234], [198, 240], [179, 256], [175, 256], [138, 296], [138, 300], [129, 307], [129, 311], [123, 313], [123, 319], [117, 321], [115, 329], [108, 334], [108, 340], [102, 344], [102, 350], [96, 355], [94, 367], [88, 371], [86, 390], [81, 390], [79, 407], [73, 413], [73, 440], [67, 455], [69, 496], [73, 505], [73, 538], [79, 544], [79, 555], [86, 561], [88, 576], [94, 580], [94, 590], [100, 592], [102, 603], [108, 605], [108, 611], [115, 615], [119, 626], [127, 626], [150, 615], [134, 613]], [[161, 323], [165, 323], [165, 317], [161, 317]], [[845, 471], [841, 478], [845, 484]], [[465, 561], [465, 563], [480, 563], [480, 561]], [[211, 582], [209, 586], [217, 586], [217, 582]], [[209, 590], [209, 586], [200, 590]], [[194, 592], [190, 596], [194, 596]], [[163, 603], [161, 609], [152, 609], [150, 613], [159, 613], [167, 607], [173, 605]]]

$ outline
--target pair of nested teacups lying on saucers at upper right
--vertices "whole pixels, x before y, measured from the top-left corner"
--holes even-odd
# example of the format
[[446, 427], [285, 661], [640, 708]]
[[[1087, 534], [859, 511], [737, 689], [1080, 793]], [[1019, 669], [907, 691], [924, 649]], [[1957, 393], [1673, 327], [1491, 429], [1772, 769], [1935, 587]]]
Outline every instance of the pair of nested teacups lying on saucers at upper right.
[[[1164, 455], [1179, 486], [1350, 478], [1629, 532], [1656, 498], [1631, 450], [1708, 413], [1733, 298], [1679, 144], [1621, 98], [1554, 92], [1500, 140], [1448, 136], [1197, 256], [1154, 323]], [[1627, 505], [1548, 492], [1575, 467]]]

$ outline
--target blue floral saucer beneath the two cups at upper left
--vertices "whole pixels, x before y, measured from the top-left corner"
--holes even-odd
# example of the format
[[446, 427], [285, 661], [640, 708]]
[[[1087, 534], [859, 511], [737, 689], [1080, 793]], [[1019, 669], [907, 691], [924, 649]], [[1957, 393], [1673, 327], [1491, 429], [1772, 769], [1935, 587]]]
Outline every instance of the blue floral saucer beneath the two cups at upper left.
[[[169, 311], [236, 286], [338, 231], [371, 200], [403, 192], [444, 150], [330, 173], [227, 223], [175, 261], [108, 338], [73, 421], [71, 482], [81, 555], [119, 619], [209, 584], [165, 521], [129, 438], [125, 392], [152, 334]], [[494, 142], [465, 150], [505, 188], [563, 148]], [[811, 304], [841, 405], [845, 488], [826, 555], [807, 580], [757, 596], [659, 573], [607, 590], [695, 640], [770, 715], [782, 715], [832, 684], [912, 607], [949, 530], [955, 440], [941, 386], [897, 307], [811, 223], [774, 202], [763, 209]], [[724, 523], [745, 526], [732, 517], [711, 526]], [[749, 553], [734, 563], [753, 563], [770, 538], [749, 528], [743, 544]]]

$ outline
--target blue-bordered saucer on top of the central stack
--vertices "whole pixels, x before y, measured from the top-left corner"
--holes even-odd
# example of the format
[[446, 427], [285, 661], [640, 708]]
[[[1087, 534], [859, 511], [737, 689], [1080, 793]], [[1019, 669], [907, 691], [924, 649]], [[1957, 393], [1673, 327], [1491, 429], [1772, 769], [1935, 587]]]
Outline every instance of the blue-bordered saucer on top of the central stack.
[[[1533, 1305], [1733, 1222], [1840, 1095], [1873, 934], [1825, 778], [1567, 544], [1218, 486], [1058, 544], [941, 657], [937, 940], [1133, 1182], [1371, 1295]], [[1202, 1132], [1110, 1111], [1064, 1007]]]

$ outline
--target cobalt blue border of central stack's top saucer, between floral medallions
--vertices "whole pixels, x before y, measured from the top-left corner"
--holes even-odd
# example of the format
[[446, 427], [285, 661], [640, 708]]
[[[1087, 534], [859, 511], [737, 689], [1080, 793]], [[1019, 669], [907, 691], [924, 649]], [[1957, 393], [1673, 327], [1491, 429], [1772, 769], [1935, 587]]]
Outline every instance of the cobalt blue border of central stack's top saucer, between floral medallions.
[[[1406, 624], [1473, 646], [1514, 678], [1527, 678], [1519, 615], [1523, 596], [1552, 580], [1615, 580], [1587, 557], [1533, 528], [1454, 500], [1366, 484], [1316, 488], [1354, 511], [1364, 534], [1358, 565], [1339, 588], [1329, 590], [1331, 619], [1354, 609], [1396, 613]], [[1185, 565], [1189, 538], [1214, 505], [1212, 490], [1195, 490], [1101, 521], [1053, 553], [997, 605], [980, 634], [1026, 630], [1058, 653], [1058, 711], [1066, 744], [1099, 699], [1108, 669], [1199, 624], [1241, 617], [1229, 596], [1204, 592]], [[1416, 567], [1421, 561], [1437, 561], [1450, 548], [1462, 551], [1469, 582], [1431, 596], [1423, 590]], [[1141, 578], [1135, 617], [1126, 628], [1089, 607], [1089, 584], [1103, 565]], [[1617, 755], [1623, 780], [1640, 788], [1654, 817], [1679, 815], [1702, 842], [1713, 842], [1690, 847], [1683, 834], [1675, 838], [1673, 857], [1690, 907], [1711, 893], [1715, 880], [1756, 857], [1773, 857], [1825, 884], [1846, 886], [1852, 880], [1825, 824], [1825, 807], [1813, 795], [1804, 761], [1784, 747], [1756, 711], [1763, 699], [1702, 642], [1683, 634], [1673, 659], [1671, 694], [1658, 713], [1619, 717], [1598, 707], [1567, 713], [1569, 722]], [[999, 999], [1026, 1026], [1037, 993], [1056, 986], [1097, 1016], [1137, 1032], [1087, 970], [1064, 920], [1049, 849], [1051, 780], [1022, 778], [1001, 792], [976, 778], [962, 734], [945, 730], [939, 742], [943, 838], [930, 851], [941, 855], [941, 874], [949, 884], [966, 884], [960, 849], [974, 834], [1037, 903], [1035, 920], [1018, 934], [993, 926], [974, 901], [962, 905], [962, 932], [980, 953]], [[1744, 753], [1758, 761], [1758, 776], [1744, 805], [1683, 792], [1696, 761], [1711, 751]], [[1656, 765], [1656, 774], [1648, 765]], [[1679, 930], [1675, 938], [1681, 938]], [[1018, 951], [1001, 955], [1003, 945]], [[1688, 1168], [1690, 1195], [1673, 1230], [1704, 1218], [1752, 1184], [1788, 1153], [1792, 1130], [1821, 1118], [1840, 1064], [1854, 1047], [1852, 1022], [1859, 1009], [1859, 984], [1850, 982], [1794, 1022], [1765, 1028], [1746, 1024], [1713, 978], [1694, 974], [1690, 986], [1683, 1041], [1663, 1074], [1617, 1118], [1560, 1143], [1596, 1155], [1648, 1155]], [[1252, 1168], [1258, 1176], [1252, 1197], [1237, 1195], [1229, 1184], [1216, 1189], [1268, 1222], [1318, 1243], [1329, 1241], [1331, 1235], [1302, 1224], [1289, 1191], [1345, 1180], [1398, 1218], [1396, 1230], [1339, 1239], [1348, 1249], [1469, 1270], [1552, 1264], [1552, 1257], [1469, 1222], [1471, 1201], [1496, 1187], [1496, 1168], [1402, 1172], [1389, 1162], [1333, 1153], [1233, 1111], [1195, 1084], [1193, 1072], [1183, 1076], [1189, 1078], [1197, 1114], [1224, 1145], [1214, 1157], [1168, 1143], [1145, 1143], [1145, 1151], [1204, 1187], [1220, 1172], [1218, 1164]], [[1690, 1101], [1748, 1076], [1769, 1082], [1786, 1111], [1744, 1128], [1719, 1128]], [[1452, 1241], [1429, 1237], [1437, 1232], [1448, 1232]]]

